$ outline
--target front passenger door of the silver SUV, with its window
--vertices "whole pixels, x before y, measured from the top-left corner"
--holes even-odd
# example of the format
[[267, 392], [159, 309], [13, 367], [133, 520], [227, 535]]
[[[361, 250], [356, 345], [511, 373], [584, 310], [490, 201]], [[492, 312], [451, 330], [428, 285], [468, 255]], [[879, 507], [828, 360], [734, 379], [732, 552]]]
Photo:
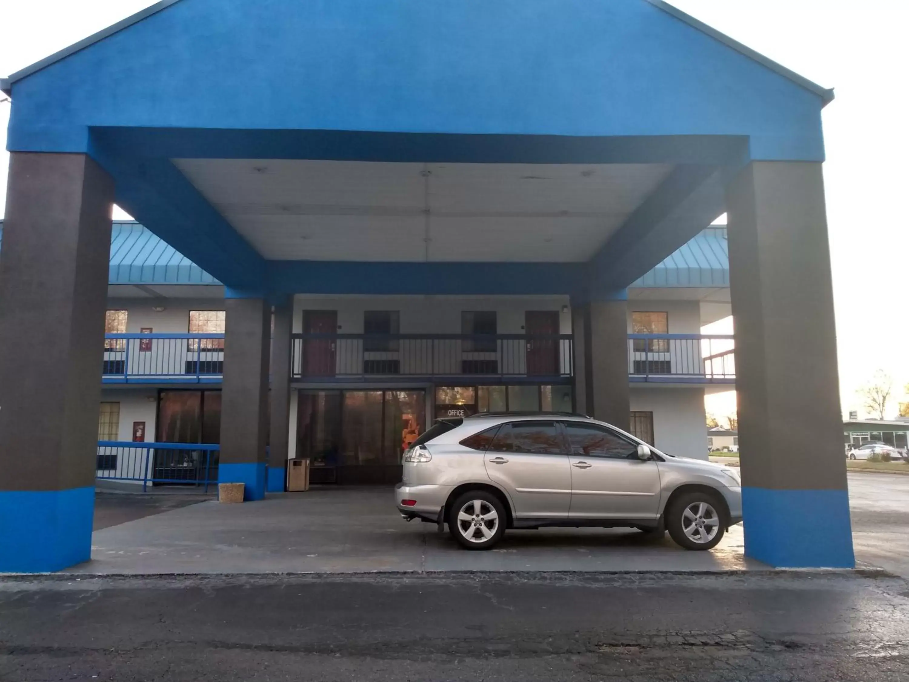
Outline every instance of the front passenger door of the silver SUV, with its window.
[[656, 518], [660, 472], [653, 461], [637, 458], [637, 445], [594, 424], [565, 425], [571, 454], [569, 517]]

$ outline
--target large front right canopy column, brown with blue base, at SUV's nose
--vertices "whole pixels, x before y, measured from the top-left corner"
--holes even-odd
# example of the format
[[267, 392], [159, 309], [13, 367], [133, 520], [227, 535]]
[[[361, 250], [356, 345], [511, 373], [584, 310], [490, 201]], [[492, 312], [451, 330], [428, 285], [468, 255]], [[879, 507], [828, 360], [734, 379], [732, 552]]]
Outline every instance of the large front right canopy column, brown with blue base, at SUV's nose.
[[727, 208], [745, 554], [852, 567], [821, 165], [753, 163]]

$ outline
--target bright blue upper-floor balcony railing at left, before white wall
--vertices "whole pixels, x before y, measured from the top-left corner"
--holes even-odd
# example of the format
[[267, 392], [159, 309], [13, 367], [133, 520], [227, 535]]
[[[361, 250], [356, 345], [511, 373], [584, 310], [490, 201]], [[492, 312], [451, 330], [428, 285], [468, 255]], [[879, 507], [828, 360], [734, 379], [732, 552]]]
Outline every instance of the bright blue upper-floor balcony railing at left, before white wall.
[[106, 334], [105, 384], [218, 383], [224, 334]]

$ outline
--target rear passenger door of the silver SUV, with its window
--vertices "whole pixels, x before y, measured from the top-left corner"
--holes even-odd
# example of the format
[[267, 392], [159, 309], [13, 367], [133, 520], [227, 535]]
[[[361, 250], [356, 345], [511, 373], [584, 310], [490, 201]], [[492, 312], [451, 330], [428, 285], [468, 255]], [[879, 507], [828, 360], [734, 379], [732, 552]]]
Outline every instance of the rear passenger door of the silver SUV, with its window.
[[485, 455], [486, 473], [503, 486], [520, 518], [566, 518], [571, 468], [554, 422], [506, 424]]

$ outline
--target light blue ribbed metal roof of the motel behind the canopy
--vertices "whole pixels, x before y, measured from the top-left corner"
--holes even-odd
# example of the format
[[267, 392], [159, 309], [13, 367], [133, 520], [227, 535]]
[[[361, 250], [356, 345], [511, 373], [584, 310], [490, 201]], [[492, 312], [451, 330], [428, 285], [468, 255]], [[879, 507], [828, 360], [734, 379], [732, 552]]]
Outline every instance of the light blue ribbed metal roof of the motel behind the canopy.
[[[3, 220], [0, 220], [0, 245]], [[219, 285], [215, 277], [133, 220], [111, 232], [112, 285]], [[729, 286], [726, 228], [711, 227], [634, 282], [640, 287]]]

